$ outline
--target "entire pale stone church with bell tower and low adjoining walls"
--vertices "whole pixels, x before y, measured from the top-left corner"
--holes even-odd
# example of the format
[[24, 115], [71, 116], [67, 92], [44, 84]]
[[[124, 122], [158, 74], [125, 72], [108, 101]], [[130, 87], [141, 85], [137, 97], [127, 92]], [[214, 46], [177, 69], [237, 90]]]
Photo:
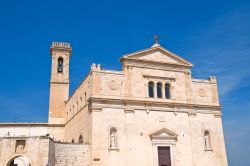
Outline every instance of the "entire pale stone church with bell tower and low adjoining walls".
[[69, 96], [69, 43], [54, 42], [48, 123], [0, 123], [0, 166], [227, 166], [215, 76], [156, 41], [92, 64]]

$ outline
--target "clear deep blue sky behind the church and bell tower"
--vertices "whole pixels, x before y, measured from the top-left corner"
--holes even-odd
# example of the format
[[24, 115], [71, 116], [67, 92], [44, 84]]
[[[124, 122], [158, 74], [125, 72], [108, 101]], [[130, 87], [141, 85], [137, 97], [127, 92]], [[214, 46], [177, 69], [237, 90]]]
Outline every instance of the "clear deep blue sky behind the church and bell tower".
[[250, 1], [0, 1], [0, 121], [46, 122], [52, 41], [73, 46], [72, 92], [90, 64], [121, 68], [118, 59], [160, 44], [216, 75], [228, 160], [249, 166]]

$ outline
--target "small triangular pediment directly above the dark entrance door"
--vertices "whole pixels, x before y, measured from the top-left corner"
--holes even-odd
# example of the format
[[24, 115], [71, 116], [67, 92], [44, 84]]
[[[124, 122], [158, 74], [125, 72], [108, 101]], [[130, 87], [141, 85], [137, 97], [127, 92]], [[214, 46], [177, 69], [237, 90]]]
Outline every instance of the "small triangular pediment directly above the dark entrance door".
[[174, 140], [177, 139], [177, 136], [178, 136], [177, 134], [166, 128], [156, 131], [155, 133], [150, 135], [151, 139], [174, 139]]

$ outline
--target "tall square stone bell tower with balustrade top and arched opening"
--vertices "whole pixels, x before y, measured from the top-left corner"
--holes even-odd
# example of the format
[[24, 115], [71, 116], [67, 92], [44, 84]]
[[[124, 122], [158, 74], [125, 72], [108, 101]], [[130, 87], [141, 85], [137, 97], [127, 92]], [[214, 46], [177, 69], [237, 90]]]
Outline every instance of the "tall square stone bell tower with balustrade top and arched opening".
[[53, 42], [50, 47], [52, 57], [49, 123], [64, 123], [65, 102], [69, 98], [69, 59], [72, 48], [70, 43]]

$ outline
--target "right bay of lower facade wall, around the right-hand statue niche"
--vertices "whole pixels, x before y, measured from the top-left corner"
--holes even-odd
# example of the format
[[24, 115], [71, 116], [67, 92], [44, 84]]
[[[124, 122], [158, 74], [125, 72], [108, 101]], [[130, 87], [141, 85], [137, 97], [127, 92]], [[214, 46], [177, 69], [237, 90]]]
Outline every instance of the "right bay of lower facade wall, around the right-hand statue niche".
[[[190, 116], [189, 122], [194, 165], [227, 166], [221, 117], [197, 113], [196, 116]], [[210, 133], [211, 149], [205, 149], [204, 146], [205, 130]]]

